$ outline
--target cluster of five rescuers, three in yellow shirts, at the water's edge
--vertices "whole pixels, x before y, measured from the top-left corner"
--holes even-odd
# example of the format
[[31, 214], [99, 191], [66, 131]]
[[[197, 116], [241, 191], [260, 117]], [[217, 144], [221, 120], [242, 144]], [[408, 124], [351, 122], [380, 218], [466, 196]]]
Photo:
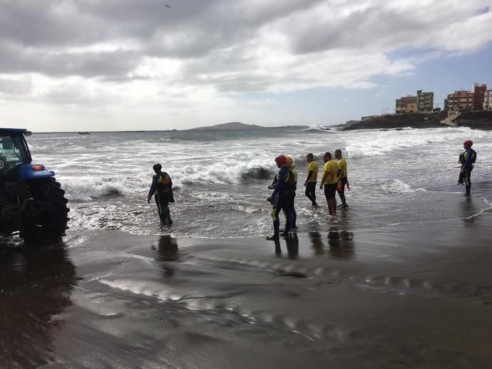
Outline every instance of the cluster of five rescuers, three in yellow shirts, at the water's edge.
[[[347, 199], [345, 199], [345, 187], [350, 189], [349, 180], [347, 178], [347, 162], [342, 157], [342, 150], [334, 152], [335, 158], [331, 152], [325, 152], [323, 155], [324, 167], [322, 179], [319, 189], [324, 189], [324, 196], [327, 199], [328, 212], [330, 215], [337, 215], [337, 199], [338, 192], [342, 200], [342, 207], [347, 208]], [[305, 195], [311, 200], [312, 206], [317, 207], [316, 202], [316, 185], [318, 178], [318, 163], [314, 160], [314, 155], [309, 153], [306, 155], [307, 160], [307, 177], [304, 182], [306, 187]], [[272, 236], [267, 239], [275, 240], [280, 237], [280, 212], [285, 214], [285, 229], [283, 235], [297, 229], [296, 220], [297, 213], [295, 212], [294, 199], [297, 190], [297, 170], [294, 165], [294, 160], [290, 155], [279, 155], [275, 157], [275, 162], [279, 168], [279, 172], [268, 188], [273, 189], [273, 193], [267, 198], [267, 201], [272, 204], [272, 220], [273, 231]]]

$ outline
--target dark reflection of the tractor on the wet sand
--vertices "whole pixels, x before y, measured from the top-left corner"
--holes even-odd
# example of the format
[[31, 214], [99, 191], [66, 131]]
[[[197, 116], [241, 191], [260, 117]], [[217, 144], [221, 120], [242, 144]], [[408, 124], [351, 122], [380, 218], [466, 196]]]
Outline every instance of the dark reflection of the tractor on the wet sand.
[[32, 368], [52, 360], [53, 320], [71, 305], [76, 269], [63, 246], [18, 249], [0, 258], [0, 368]]

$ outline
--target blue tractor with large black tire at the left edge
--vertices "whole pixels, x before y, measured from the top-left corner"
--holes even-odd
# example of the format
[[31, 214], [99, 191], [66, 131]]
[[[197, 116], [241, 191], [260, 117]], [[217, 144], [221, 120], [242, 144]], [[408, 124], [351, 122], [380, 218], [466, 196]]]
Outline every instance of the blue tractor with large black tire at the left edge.
[[0, 128], [0, 233], [19, 232], [26, 244], [52, 244], [68, 229], [68, 200], [55, 173], [32, 164], [29, 135]]

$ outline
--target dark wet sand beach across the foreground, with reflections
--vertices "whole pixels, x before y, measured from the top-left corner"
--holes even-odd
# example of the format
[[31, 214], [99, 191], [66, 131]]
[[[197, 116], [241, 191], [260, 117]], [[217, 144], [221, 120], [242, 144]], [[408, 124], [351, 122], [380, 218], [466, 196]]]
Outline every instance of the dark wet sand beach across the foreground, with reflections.
[[0, 367], [491, 368], [491, 224], [7, 249]]

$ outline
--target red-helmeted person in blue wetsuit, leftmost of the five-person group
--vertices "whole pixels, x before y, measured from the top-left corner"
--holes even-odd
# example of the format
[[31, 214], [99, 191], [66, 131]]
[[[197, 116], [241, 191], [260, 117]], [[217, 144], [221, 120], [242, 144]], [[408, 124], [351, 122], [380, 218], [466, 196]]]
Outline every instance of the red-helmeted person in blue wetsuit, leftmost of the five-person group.
[[289, 208], [290, 197], [292, 196], [292, 190], [294, 187], [294, 175], [287, 166], [287, 158], [285, 155], [279, 155], [275, 157], [277, 167], [280, 168], [277, 174], [277, 183], [275, 189], [267, 201], [272, 204], [272, 219], [273, 219], [273, 235], [267, 237], [270, 240], [276, 240], [280, 237], [280, 218], [279, 214], [283, 210], [285, 214], [285, 231], [284, 234], [290, 232], [291, 227], [291, 212]]

